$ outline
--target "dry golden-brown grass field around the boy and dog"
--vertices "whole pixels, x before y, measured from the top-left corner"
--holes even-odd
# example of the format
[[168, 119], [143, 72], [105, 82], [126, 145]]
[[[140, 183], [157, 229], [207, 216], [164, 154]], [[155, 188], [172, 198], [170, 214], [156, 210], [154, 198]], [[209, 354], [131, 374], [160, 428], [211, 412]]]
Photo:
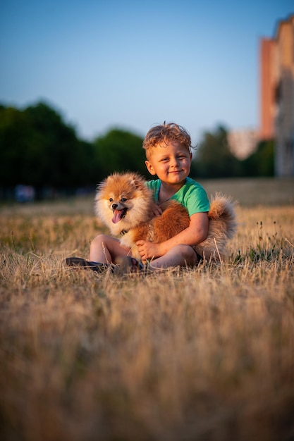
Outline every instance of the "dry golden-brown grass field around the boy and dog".
[[63, 268], [90, 198], [1, 206], [0, 439], [294, 440], [294, 186], [268, 184], [207, 182], [240, 202], [230, 259], [147, 276]]

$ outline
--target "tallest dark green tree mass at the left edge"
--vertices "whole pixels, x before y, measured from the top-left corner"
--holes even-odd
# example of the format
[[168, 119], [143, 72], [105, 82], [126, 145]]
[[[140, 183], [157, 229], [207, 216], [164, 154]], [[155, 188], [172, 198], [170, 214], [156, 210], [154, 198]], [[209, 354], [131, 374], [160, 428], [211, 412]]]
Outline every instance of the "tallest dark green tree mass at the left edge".
[[76, 188], [94, 185], [94, 146], [47, 104], [0, 107], [0, 185]]

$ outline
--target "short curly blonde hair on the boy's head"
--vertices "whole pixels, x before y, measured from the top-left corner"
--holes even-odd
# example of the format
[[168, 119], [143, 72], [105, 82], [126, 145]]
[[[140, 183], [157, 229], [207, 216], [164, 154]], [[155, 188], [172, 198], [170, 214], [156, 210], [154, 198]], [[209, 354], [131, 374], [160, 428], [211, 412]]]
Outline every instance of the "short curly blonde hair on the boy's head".
[[175, 123], [168, 123], [164, 121], [162, 125], [155, 125], [152, 127], [143, 141], [143, 149], [146, 152], [146, 158], [152, 154], [152, 149], [157, 147], [158, 144], [172, 144], [178, 142], [183, 145], [189, 152], [191, 152], [191, 137], [187, 130], [181, 125]]

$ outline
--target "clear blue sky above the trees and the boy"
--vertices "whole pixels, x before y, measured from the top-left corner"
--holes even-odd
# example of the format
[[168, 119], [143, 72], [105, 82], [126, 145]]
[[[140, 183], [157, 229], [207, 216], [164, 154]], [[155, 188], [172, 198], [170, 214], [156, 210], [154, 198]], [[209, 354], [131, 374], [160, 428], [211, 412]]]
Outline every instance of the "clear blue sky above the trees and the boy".
[[9, 0], [0, 102], [45, 100], [84, 139], [175, 121], [199, 142], [259, 124], [259, 39], [293, 0]]

